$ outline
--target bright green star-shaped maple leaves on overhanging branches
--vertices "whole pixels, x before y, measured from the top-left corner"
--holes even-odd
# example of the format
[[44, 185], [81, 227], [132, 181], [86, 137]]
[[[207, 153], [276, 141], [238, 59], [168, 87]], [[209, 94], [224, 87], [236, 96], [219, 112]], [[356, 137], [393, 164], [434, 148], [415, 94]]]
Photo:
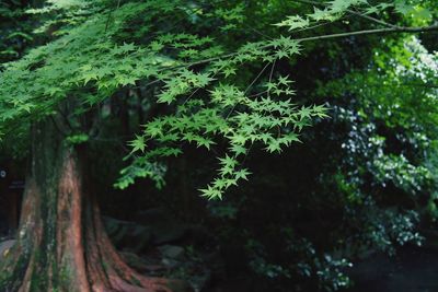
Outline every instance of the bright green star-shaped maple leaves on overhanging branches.
[[[0, 132], [27, 131], [31, 122], [54, 116], [66, 101], [78, 105], [69, 115], [82, 115], [122, 89], [149, 86], [158, 93], [151, 103], [168, 105], [169, 114], [143, 125], [130, 142], [131, 164], [116, 186], [125, 188], [137, 177], [149, 177], [160, 187], [163, 157], [178, 155], [184, 143], [211, 150], [226, 141], [217, 177], [200, 190], [209, 199], [221, 198], [229, 187], [247, 179], [243, 162], [254, 144], [268, 153], [281, 152], [300, 141], [300, 131], [312, 120], [326, 117], [322, 105], [297, 105], [293, 81], [275, 71], [278, 60], [292, 59], [302, 50], [304, 39], [290, 33], [342, 20], [351, 9], [362, 15], [391, 9], [418, 11], [417, 3], [407, 1], [371, 5], [366, 0], [334, 0], [307, 14], [268, 19], [287, 34], [254, 40], [239, 37], [247, 17], [241, 2], [48, 3], [30, 13], [58, 13], [38, 31], [58, 25], [55, 40], [2, 66]], [[427, 19], [427, 10], [420, 11]], [[244, 83], [239, 75], [249, 66], [260, 70]]]

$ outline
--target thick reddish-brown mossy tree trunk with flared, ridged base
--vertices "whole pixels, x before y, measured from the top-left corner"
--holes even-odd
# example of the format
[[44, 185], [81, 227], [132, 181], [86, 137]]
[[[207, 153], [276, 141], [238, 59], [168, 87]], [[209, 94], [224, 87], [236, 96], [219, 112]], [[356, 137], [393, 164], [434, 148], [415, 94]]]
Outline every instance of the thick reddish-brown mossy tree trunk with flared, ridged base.
[[62, 138], [51, 121], [33, 129], [20, 230], [0, 262], [0, 291], [188, 291], [122, 260], [102, 225], [84, 156]]

